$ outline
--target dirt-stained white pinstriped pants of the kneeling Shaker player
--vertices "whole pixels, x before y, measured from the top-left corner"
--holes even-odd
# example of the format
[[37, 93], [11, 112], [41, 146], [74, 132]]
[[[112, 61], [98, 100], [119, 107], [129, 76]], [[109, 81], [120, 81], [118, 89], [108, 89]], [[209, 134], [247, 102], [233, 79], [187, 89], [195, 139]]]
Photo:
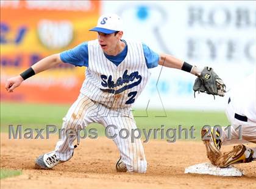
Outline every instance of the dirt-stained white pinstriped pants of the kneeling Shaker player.
[[83, 94], [79, 95], [63, 118], [62, 139], [55, 146], [55, 153], [60, 160], [70, 159], [74, 151], [73, 142], [76, 140], [76, 135], [66, 137], [66, 131], [74, 129], [77, 132], [78, 129], [83, 129], [90, 123], [100, 123], [105, 127], [115, 125], [117, 129], [110, 127], [108, 131], [111, 132], [111, 136], [116, 134], [113, 141], [118, 146], [127, 170], [129, 172], [146, 173], [147, 162], [141, 140], [134, 139], [134, 142], [132, 142], [130, 137], [127, 139], [119, 137], [121, 129], [127, 129], [131, 133], [132, 129], [137, 128], [130, 108], [110, 109], [90, 100]]

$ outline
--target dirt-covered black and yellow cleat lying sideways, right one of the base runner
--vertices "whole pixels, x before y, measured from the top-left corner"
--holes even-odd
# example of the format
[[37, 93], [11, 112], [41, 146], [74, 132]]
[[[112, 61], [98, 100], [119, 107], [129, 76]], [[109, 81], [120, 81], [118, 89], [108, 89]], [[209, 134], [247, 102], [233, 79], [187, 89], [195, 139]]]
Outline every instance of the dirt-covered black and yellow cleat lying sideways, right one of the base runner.
[[252, 162], [254, 151], [244, 145], [233, 146], [232, 151], [223, 153], [216, 161], [218, 167], [228, 167], [236, 163]]

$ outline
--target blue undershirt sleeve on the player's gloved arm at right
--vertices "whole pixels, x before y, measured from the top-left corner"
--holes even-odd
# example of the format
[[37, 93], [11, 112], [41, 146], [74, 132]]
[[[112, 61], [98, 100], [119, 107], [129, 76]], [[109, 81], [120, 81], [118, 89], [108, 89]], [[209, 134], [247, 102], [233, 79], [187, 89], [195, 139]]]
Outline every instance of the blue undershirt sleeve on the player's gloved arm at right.
[[153, 50], [149, 49], [146, 44], [142, 43], [143, 51], [144, 51], [144, 57], [146, 59], [146, 64], [148, 68], [153, 68], [158, 66], [159, 61], [159, 55], [158, 53], [155, 53]]

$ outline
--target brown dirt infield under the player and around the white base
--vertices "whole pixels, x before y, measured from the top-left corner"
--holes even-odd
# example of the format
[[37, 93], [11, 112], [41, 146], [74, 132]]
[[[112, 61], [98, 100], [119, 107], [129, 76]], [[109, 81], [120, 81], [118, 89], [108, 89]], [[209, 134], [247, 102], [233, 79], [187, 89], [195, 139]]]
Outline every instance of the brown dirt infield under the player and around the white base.
[[208, 162], [201, 142], [151, 140], [144, 143], [146, 174], [116, 173], [118, 151], [112, 140], [83, 140], [74, 157], [54, 170], [34, 170], [34, 160], [54, 149], [51, 140], [9, 140], [1, 134], [1, 168], [23, 170], [1, 180], [1, 188], [256, 188], [256, 162], [236, 165], [243, 177], [184, 174], [185, 167]]

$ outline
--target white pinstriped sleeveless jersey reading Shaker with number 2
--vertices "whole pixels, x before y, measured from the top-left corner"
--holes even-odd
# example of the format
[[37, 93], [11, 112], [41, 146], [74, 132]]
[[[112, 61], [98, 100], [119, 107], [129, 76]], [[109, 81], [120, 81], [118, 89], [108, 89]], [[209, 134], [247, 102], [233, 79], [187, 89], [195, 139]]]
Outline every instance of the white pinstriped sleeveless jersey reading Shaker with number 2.
[[88, 41], [89, 66], [80, 92], [111, 108], [130, 107], [149, 80], [142, 43], [126, 41], [127, 55], [116, 66], [108, 60], [98, 40]]

